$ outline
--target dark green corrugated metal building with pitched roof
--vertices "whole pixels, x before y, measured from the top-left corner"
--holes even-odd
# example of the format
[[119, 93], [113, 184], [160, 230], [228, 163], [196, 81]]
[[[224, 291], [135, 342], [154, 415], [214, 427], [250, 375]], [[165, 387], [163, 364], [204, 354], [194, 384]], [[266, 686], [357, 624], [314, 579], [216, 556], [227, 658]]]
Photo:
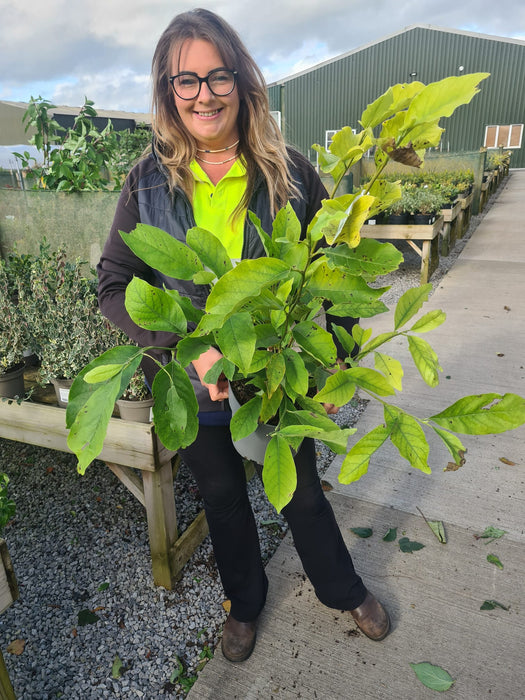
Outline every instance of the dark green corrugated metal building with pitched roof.
[[414, 25], [272, 83], [268, 93], [287, 142], [315, 162], [311, 145], [328, 145], [343, 126], [359, 131], [365, 107], [390, 85], [477, 72], [491, 75], [469, 105], [442, 120], [441, 149], [503, 146], [512, 151], [511, 167], [523, 168], [525, 41]]

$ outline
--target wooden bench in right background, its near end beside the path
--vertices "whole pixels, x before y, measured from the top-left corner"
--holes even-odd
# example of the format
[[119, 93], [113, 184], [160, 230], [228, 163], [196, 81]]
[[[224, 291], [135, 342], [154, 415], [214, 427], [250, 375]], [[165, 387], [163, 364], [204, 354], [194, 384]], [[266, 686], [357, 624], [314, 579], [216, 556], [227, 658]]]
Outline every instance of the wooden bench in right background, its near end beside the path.
[[[443, 216], [433, 224], [367, 224], [361, 227], [363, 238], [386, 241], [406, 241], [421, 257], [421, 284], [426, 284], [439, 264], [439, 234], [443, 228]], [[414, 241], [421, 241], [419, 247]]]

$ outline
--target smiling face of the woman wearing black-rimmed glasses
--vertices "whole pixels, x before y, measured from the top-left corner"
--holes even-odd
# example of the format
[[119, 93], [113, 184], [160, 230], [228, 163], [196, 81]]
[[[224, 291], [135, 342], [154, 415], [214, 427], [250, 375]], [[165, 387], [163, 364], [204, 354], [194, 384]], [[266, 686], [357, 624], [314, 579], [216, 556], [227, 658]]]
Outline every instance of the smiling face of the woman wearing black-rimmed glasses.
[[[215, 68], [228, 67], [224, 65], [215, 46], [202, 39], [188, 39], [182, 45], [180, 56], [178, 53], [174, 52], [172, 58], [171, 75], [190, 71], [205, 78]], [[173, 97], [182, 123], [197, 142], [198, 148], [226, 148], [239, 138], [237, 86], [229, 95], [217, 97], [207, 83], [202, 83], [198, 96], [193, 100], [183, 100], [175, 92]]]

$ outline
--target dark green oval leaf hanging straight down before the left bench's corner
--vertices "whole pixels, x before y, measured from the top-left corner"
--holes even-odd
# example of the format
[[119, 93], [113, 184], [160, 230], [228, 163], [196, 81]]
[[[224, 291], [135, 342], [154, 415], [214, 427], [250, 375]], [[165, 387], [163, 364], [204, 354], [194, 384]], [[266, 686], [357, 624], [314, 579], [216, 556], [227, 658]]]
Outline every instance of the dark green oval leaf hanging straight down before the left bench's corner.
[[176, 362], [155, 375], [153, 420], [160, 441], [168, 450], [188, 447], [197, 437], [199, 406], [190, 378]]

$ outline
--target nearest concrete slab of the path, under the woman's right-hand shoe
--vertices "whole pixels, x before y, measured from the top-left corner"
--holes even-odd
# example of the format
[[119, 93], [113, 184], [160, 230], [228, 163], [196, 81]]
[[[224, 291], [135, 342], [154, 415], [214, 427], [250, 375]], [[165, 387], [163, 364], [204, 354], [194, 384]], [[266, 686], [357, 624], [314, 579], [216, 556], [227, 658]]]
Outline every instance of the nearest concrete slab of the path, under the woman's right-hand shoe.
[[[523, 546], [507, 536], [487, 545], [469, 528], [445, 523], [441, 544], [417, 517], [341, 494], [329, 494], [355, 565], [391, 613], [393, 630], [372, 642], [349, 613], [316, 599], [286, 536], [268, 565], [269, 597], [252, 656], [231, 664], [218, 650], [189, 700], [370, 700], [435, 697], [410, 663], [446, 669], [455, 683], [447, 697], [462, 700], [523, 697], [525, 630]], [[361, 539], [351, 527], [369, 527]], [[396, 527], [425, 547], [412, 554], [382, 537]], [[496, 554], [500, 570], [487, 562]], [[485, 600], [509, 607], [481, 611]]]

